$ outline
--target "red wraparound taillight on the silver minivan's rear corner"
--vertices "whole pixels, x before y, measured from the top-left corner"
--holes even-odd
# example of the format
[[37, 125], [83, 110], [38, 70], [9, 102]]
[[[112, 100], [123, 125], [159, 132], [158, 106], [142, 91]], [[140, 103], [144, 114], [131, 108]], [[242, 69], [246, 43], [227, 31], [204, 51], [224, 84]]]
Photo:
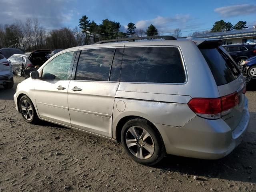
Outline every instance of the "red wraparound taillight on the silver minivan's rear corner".
[[188, 106], [200, 117], [218, 119], [228, 114], [238, 103], [238, 93], [234, 92], [220, 98], [192, 98]]

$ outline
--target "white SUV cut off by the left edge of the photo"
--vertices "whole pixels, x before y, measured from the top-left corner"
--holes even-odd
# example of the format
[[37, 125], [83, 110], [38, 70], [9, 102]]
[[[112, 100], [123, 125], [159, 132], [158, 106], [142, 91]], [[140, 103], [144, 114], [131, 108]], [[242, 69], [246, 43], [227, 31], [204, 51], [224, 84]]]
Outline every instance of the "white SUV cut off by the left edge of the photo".
[[11, 89], [14, 85], [12, 75], [12, 64], [0, 52], [0, 85], [5, 89]]

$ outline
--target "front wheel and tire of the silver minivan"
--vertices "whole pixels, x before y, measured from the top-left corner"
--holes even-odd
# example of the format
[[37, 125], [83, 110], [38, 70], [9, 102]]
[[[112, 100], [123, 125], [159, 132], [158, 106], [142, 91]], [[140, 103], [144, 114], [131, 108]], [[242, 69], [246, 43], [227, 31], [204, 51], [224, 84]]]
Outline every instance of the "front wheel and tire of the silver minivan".
[[26, 122], [31, 124], [36, 124], [38, 122], [39, 119], [36, 114], [36, 109], [28, 96], [24, 95], [20, 98], [19, 107], [20, 113]]

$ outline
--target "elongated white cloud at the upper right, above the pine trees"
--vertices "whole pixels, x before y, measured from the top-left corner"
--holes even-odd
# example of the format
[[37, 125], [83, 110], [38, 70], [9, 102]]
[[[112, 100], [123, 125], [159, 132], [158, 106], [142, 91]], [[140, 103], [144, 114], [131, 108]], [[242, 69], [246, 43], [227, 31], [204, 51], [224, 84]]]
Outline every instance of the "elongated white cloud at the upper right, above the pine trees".
[[253, 5], [253, 4], [232, 5], [232, 6], [219, 7], [214, 9], [214, 11], [224, 17], [256, 14], [256, 5]]

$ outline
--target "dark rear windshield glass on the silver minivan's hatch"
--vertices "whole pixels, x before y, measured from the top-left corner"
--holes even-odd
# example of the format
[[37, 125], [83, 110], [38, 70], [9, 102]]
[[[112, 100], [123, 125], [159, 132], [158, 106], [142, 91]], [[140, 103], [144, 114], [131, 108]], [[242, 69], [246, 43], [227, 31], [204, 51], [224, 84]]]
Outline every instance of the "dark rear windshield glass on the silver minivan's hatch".
[[240, 75], [236, 64], [220, 48], [200, 49], [200, 51], [212, 71], [217, 86], [227, 84]]

